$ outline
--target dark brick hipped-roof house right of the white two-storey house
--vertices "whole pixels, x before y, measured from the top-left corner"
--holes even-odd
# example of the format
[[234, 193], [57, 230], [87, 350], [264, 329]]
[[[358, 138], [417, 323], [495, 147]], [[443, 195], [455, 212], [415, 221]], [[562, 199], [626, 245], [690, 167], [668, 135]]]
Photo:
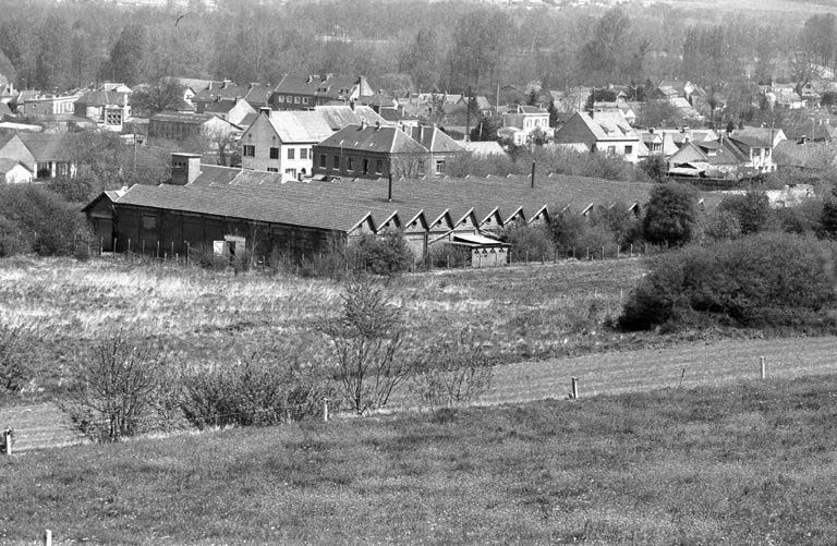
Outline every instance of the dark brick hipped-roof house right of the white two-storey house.
[[423, 177], [429, 150], [398, 128], [349, 125], [314, 146], [314, 173], [328, 178]]

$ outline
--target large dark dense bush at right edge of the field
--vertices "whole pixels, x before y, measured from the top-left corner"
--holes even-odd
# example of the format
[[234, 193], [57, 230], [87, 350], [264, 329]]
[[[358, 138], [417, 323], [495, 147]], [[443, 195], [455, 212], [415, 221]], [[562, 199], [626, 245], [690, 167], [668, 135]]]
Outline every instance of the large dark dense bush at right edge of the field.
[[695, 313], [738, 327], [833, 324], [833, 248], [812, 238], [764, 233], [657, 258], [624, 304], [623, 329], [669, 323]]

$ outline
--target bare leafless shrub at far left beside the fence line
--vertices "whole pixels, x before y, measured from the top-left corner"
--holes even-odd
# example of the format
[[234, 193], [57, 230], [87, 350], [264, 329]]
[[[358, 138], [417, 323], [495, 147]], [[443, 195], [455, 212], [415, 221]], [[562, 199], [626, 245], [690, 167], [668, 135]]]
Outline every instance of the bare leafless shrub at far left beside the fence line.
[[168, 362], [158, 340], [124, 331], [99, 341], [75, 363], [74, 385], [61, 402], [76, 425], [99, 439], [133, 436], [159, 408]]

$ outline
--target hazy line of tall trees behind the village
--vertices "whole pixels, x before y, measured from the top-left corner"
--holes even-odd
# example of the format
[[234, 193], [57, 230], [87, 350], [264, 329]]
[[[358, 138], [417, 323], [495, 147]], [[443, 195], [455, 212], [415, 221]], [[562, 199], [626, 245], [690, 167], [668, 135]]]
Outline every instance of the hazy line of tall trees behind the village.
[[450, 93], [675, 77], [720, 90], [742, 80], [804, 81], [813, 64], [837, 64], [830, 14], [383, 0], [221, 0], [216, 11], [0, 0], [0, 73], [44, 90], [167, 75], [278, 83], [287, 73], [325, 72], [364, 74], [381, 88]]

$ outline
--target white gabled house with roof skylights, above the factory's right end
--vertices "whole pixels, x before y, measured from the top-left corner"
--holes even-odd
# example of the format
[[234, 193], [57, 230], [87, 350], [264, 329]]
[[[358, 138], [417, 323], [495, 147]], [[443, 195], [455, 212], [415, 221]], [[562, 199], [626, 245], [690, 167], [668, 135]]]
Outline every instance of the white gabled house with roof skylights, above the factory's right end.
[[639, 162], [644, 148], [639, 134], [627, 122], [602, 116], [594, 119], [586, 112], [575, 112], [556, 131], [555, 142], [584, 145], [591, 151], [619, 156], [632, 163]]

